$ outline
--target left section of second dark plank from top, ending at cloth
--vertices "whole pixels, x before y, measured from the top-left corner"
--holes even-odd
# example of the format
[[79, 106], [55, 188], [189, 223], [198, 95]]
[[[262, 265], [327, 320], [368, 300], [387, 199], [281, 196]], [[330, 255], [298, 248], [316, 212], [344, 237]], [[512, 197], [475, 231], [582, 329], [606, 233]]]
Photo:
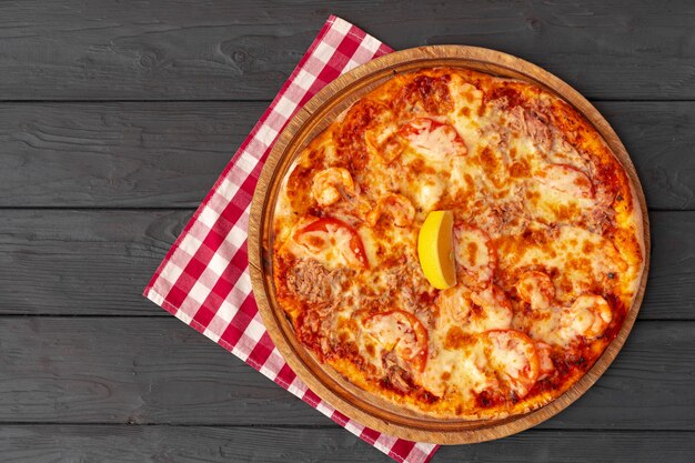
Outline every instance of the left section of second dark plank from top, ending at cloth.
[[197, 207], [266, 105], [0, 104], [0, 207]]

